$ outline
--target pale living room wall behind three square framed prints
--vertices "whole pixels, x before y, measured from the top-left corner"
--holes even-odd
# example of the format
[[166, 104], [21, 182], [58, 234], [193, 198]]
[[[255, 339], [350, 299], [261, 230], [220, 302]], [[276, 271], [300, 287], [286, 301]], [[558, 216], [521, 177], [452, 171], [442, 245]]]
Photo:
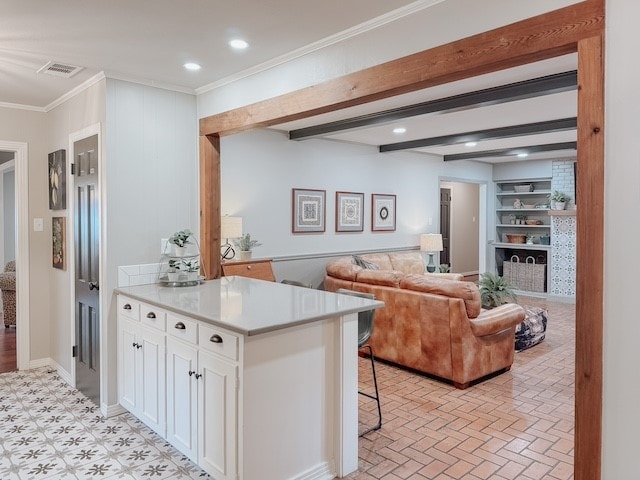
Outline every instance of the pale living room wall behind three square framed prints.
[[[263, 243], [256, 257], [417, 246], [420, 233], [438, 229], [439, 176], [491, 178], [489, 165], [445, 164], [439, 157], [381, 154], [327, 140], [296, 142], [273, 130], [223, 137], [221, 151], [222, 214], [241, 216], [244, 232]], [[324, 234], [291, 233], [294, 187], [326, 190]], [[364, 232], [335, 232], [336, 191], [365, 194]], [[397, 195], [395, 232], [371, 232], [372, 193]]]

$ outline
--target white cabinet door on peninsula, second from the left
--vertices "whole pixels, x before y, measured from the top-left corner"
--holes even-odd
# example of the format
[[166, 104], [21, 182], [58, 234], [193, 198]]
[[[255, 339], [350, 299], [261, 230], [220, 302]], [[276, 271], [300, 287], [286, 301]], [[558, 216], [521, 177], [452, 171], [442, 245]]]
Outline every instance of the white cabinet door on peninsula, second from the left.
[[165, 334], [140, 327], [137, 387], [138, 416], [159, 435], [166, 435]]

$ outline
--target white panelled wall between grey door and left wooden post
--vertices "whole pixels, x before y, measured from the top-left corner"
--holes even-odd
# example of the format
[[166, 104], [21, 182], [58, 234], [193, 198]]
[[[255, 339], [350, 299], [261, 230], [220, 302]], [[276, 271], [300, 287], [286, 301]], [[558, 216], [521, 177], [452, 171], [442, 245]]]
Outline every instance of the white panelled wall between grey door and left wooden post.
[[198, 125], [193, 95], [107, 79], [106, 364], [109, 405], [117, 403], [116, 307], [118, 266], [160, 260], [160, 239], [198, 232]]

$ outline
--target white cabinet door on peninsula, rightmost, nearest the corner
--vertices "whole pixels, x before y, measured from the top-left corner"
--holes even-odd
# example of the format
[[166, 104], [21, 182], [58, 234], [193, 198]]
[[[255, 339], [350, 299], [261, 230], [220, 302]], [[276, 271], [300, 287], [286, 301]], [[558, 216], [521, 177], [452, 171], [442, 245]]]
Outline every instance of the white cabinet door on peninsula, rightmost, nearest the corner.
[[237, 472], [238, 367], [198, 353], [198, 464], [220, 480]]

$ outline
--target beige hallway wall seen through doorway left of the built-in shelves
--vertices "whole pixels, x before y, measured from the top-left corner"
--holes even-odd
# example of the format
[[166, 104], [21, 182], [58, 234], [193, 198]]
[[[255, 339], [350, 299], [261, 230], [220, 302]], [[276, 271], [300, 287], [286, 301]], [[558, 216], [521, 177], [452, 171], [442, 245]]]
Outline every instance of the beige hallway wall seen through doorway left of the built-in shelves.
[[441, 182], [440, 187], [451, 189], [451, 271], [477, 273], [480, 267], [480, 187], [478, 184], [461, 182]]

